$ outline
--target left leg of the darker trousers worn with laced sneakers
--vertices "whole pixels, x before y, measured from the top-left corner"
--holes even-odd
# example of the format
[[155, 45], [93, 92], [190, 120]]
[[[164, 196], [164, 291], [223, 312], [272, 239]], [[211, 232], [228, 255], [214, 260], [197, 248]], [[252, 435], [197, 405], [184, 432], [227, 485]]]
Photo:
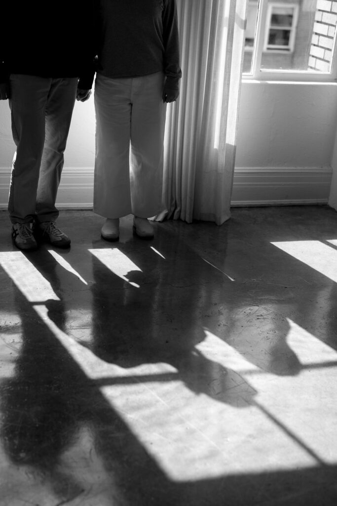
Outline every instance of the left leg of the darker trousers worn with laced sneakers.
[[12, 74], [11, 117], [14, 155], [8, 210], [12, 223], [31, 222], [44, 145], [44, 117], [51, 79]]

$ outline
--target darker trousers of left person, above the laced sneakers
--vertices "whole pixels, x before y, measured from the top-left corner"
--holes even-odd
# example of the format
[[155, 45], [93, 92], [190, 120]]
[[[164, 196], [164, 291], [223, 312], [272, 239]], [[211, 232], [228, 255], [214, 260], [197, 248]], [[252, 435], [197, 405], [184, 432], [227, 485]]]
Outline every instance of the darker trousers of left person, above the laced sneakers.
[[[77, 77], [10, 76], [12, 133], [17, 147], [8, 204], [13, 231], [23, 230], [20, 226], [24, 225], [28, 233], [33, 221], [42, 226], [54, 223], [59, 215], [55, 202], [77, 82]], [[57, 242], [65, 241], [59, 236]]]

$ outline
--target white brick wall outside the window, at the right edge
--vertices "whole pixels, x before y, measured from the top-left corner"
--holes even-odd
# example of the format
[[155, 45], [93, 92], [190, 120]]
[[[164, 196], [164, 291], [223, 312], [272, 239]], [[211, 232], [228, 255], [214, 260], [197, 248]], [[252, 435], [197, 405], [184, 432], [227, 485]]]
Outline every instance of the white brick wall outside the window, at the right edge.
[[337, 24], [337, 0], [317, 0], [309, 70], [329, 72]]

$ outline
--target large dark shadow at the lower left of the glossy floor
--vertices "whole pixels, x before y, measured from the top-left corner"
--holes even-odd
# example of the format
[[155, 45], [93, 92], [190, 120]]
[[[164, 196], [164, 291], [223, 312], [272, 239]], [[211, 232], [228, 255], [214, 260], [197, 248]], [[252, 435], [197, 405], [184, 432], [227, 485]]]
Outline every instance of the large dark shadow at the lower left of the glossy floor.
[[[23, 340], [15, 375], [1, 383], [1, 436], [13, 462], [47, 470], [81, 422], [83, 374], [17, 290], [15, 298]], [[58, 305], [56, 320], [62, 326], [62, 307], [50, 302]]]

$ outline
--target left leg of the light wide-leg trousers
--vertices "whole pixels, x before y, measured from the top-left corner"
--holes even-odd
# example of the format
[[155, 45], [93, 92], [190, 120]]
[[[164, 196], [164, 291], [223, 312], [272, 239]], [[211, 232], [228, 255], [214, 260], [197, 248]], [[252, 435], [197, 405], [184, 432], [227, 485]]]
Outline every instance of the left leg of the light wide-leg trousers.
[[95, 80], [96, 154], [93, 210], [105, 218], [131, 213], [129, 158], [132, 79]]

